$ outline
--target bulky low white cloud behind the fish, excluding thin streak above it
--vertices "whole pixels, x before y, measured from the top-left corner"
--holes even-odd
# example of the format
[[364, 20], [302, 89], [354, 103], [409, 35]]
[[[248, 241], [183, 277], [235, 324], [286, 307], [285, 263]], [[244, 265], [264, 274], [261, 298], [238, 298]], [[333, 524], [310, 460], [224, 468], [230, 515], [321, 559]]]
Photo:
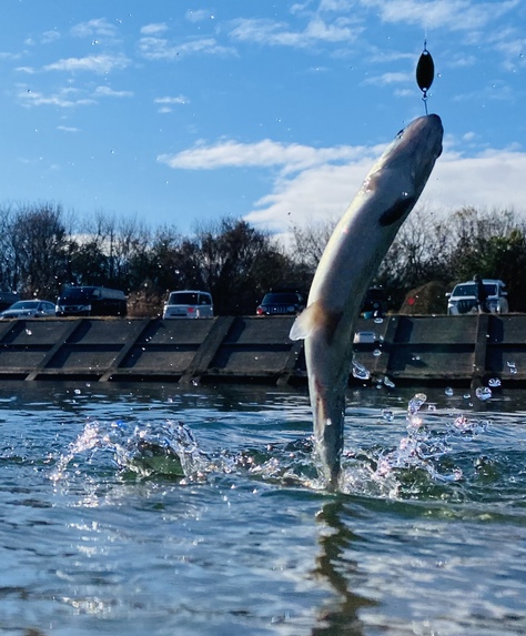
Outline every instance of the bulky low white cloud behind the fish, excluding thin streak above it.
[[[291, 179], [281, 175], [273, 191], [255, 202], [245, 219], [275, 232], [340, 218], [371, 169], [371, 161], [320, 165]], [[445, 152], [437, 161], [419, 205], [447, 213], [465, 205], [526, 212], [526, 153], [492, 150], [475, 157]]]

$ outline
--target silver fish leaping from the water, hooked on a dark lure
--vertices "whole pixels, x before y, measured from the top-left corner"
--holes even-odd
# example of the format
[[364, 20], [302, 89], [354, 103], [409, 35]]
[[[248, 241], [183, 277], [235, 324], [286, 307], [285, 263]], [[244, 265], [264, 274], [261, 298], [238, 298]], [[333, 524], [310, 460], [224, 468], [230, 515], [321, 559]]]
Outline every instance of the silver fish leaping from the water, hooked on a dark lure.
[[341, 475], [345, 393], [362, 299], [442, 154], [437, 114], [413, 120], [375, 162], [341, 218], [317, 265], [290, 339], [304, 340], [314, 453], [327, 489]]

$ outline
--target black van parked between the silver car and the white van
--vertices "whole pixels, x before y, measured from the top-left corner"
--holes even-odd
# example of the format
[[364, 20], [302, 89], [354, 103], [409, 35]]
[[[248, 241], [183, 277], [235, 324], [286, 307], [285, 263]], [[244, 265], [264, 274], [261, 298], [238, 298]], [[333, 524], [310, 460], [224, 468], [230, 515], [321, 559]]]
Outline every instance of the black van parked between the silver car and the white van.
[[67, 285], [57, 299], [58, 316], [125, 316], [127, 296], [120, 290]]

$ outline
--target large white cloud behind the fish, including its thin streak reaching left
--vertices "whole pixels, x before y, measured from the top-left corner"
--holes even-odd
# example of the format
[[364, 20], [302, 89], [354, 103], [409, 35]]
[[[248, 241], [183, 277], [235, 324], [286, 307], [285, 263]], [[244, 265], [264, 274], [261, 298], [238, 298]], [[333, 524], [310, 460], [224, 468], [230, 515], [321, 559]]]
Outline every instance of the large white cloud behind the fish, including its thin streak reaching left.
[[[245, 219], [254, 225], [286, 233], [291, 224], [341, 216], [384, 148], [316, 149], [269, 139], [253, 144], [226, 140], [213, 145], [202, 143], [174, 155], [162, 154], [158, 161], [176, 170], [274, 170], [271, 192], [254, 203]], [[520, 210], [526, 201], [525, 173], [525, 152], [484, 150], [466, 157], [455, 151], [453, 140], [448, 140], [421, 204], [437, 212], [464, 205]]]

